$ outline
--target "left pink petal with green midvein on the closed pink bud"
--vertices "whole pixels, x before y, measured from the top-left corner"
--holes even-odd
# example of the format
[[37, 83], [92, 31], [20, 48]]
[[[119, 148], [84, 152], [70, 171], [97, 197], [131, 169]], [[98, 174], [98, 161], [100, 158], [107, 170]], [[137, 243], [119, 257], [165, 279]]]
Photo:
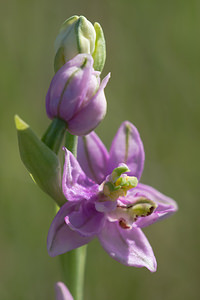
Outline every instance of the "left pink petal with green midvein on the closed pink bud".
[[[81, 68], [84, 61], [86, 64]], [[91, 55], [79, 54], [54, 75], [46, 96], [47, 114], [51, 119], [59, 116], [67, 122], [74, 116], [86, 96], [92, 65]]]

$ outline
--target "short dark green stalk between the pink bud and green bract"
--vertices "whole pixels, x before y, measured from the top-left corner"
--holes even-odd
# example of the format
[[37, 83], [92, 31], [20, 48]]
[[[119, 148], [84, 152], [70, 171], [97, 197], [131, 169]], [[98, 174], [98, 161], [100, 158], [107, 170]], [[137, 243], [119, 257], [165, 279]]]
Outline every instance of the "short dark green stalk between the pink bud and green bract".
[[66, 128], [67, 124], [65, 121], [55, 118], [41, 139], [56, 154], [62, 144]]

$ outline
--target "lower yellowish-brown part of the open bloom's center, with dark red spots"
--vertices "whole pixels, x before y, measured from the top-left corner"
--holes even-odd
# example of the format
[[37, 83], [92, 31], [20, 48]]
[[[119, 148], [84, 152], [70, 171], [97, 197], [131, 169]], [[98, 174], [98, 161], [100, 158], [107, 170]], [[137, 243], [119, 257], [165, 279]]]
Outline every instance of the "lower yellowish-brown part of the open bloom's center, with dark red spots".
[[129, 229], [138, 218], [150, 216], [156, 207], [154, 201], [145, 197], [137, 197], [134, 203], [118, 205], [114, 211], [109, 213], [109, 218], [112, 221], [118, 220], [122, 228]]

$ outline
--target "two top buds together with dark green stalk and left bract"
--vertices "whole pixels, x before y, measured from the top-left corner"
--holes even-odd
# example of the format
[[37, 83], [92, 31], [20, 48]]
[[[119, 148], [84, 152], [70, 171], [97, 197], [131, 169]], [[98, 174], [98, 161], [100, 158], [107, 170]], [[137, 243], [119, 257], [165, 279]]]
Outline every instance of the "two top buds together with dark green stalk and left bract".
[[83, 16], [67, 19], [55, 40], [55, 75], [46, 95], [46, 112], [52, 120], [40, 139], [18, 116], [21, 159], [32, 179], [59, 206], [66, 202], [61, 190], [61, 166], [56, 155], [64, 135], [86, 135], [103, 120], [107, 102], [104, 88], [110, 74], [100, 75], [106, 59], [106, 45], [99, 23]]

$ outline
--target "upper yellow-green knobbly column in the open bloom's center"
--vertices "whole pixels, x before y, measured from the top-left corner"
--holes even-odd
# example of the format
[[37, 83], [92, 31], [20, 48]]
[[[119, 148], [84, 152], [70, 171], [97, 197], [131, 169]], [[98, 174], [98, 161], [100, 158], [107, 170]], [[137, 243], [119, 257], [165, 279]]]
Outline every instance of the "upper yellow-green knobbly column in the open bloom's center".
[[123, 174], [130, 172], [125, 164], [115, 168], [107, 180], [103, 183], [103, 194], [111, 201], [117, 200], [121, 196], [126, 196], [127, 191], [136, 187], [138, 184], [137, 177]]

